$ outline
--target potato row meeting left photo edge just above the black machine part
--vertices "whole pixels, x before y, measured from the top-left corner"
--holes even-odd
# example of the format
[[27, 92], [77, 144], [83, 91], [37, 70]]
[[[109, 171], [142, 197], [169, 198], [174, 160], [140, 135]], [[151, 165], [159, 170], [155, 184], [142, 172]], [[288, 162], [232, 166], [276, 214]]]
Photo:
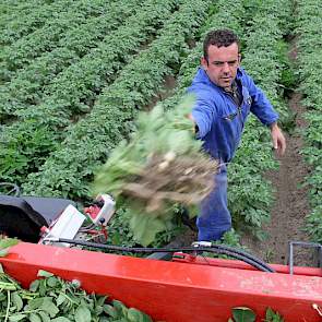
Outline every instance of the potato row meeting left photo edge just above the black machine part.
[[57, 143], [68, 134], [63, 128], [92, 109], [102, 88], [114, 81], [141, 46], [160, 31], [177, 4], [177, 0], [146, 1], [97, 48], [58, 74], [46, 87], [39, 105], [21, 110], [19, 121], [3, 127], [0, 136], [1, 176], [5, 180], [22, 182], [27, 174], [37, 171], [48, 154], [56, 150]]

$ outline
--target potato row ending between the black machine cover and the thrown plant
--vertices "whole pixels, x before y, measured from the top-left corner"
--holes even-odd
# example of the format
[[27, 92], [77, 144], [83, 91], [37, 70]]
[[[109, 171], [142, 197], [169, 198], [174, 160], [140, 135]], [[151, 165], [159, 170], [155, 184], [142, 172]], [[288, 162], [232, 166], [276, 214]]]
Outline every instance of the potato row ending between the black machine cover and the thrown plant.
[[186, 1], [148, 48], [104, 88], [91, 114], [70, 126], [70, 135], [37, 174], [23, 186], [26, 193], [86, 198], [95, 168], [134, 130], [138, 110], [153, 99], [166, 75], [174, 75], [206, 14], [208, 0]]

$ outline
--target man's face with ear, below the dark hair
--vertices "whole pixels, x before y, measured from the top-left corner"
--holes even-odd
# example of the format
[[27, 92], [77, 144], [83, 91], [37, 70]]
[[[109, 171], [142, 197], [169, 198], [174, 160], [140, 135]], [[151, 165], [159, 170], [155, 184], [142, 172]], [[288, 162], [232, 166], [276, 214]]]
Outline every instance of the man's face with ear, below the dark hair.
[[203, 57], [201, 64], [206, 71], [208, 77], [217, 86], [229, 90], [236, 77], [237, 69], [240, 63], [238, 45], [236, 43], [228, 47], [208, 47], [208, 61]]

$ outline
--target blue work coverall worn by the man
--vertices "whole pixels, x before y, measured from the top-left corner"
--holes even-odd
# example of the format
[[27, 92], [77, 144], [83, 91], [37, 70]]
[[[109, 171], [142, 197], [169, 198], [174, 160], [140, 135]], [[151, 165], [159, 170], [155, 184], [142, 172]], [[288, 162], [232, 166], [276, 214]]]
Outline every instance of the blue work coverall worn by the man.
[[249, 112], [253, 112], [265, 126], [278, 119], [264, 93], [241, 68], [237, 71], [236, 84], [242, 96], [240, 106], [224, 88], [215, 85], [202, 68], [188, 88], [188, 93], [194, 93], [196, 97], [192, 110], [199, 129], [196, 138], [203, 141], [203, 148], [222, 164], [214, 176], [214, 190], [200, 205], [198, 240], [218, 240], [231, 228], [225, 164], [234, 157]]

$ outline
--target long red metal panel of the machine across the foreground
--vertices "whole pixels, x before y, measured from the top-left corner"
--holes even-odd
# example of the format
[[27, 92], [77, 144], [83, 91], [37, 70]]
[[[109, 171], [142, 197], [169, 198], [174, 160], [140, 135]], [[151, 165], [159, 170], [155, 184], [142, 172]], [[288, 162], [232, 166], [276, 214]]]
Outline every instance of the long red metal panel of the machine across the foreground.
[[90, 291], [107, 294], [168, 322], [227, 321], [232, 307], [267, 307], [288, 322], [321, 322], [322, 277], [264, 273], [236, 267], [191, 265], [76, 249], [20, 243], [0, 259], [25, 286], [39, 269], [79, 279]]

